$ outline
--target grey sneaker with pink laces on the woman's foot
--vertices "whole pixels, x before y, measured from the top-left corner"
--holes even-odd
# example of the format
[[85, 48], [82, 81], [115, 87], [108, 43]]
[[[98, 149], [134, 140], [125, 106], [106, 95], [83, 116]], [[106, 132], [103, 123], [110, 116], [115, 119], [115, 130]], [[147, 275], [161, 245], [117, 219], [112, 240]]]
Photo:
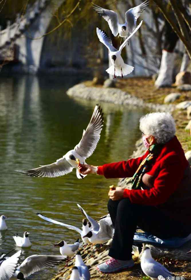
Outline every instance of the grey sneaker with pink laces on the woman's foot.
[[133, 259], [131, 260], [116, 260], [111, 258], [106, 262], [99, 264], [97, 269], [103, 273], [114, 273], [134, 266]]

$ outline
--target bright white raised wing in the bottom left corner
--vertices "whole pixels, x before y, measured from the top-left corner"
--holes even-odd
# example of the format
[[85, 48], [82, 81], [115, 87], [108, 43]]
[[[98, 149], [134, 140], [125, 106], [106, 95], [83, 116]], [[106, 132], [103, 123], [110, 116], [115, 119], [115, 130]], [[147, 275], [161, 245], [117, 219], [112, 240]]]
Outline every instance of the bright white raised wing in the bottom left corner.
[[19, 256], [21, 255], [21, 250], [15, 253], [10, 258], [4, 260], [0, 266], [0, 279], [9, 280], [15, 273], [17, 269], [17, 263], [19, 261]]

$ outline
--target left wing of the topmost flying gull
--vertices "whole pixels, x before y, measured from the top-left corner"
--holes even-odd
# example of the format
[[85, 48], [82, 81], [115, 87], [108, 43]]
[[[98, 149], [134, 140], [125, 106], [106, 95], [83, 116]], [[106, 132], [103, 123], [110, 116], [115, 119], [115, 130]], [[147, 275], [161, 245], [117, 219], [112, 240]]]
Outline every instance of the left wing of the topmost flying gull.
[[111, 29], [111, 32], [113, 33], [114, 36], [117, 36], [118, 34], [118, 24], [119, 24], [119, 18], [117, 13], [115, 13], [112, 10], [104, 9], [101, 8], [97, 5], [93, 4], [94, 10], [102, 16], [109, 24], [109, 28]]

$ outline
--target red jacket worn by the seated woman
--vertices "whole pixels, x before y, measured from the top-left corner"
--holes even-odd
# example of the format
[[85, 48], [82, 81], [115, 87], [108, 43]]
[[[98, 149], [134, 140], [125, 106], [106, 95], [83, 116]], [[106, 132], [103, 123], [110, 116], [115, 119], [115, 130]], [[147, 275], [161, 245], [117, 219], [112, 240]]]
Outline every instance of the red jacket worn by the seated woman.
[[[136, 159], [104, 164], [98, 167], [98, 174], [104, 175], [106, 178], [133, 177], [140, 163], [147, 155], [148, 150], [145, 155]], [[164, 144], [160, 154], [147, 171], [147, 174], [151, 175], [148, 177], [152, 178], [152, 185], [149, 188], [147, 186], [147, 189], [144, 190], [125, 189], [124, 198], [128, 197], [132, 203], [136, 204], [157, 206], [167, 215], [179, 221], [182, 221], [184, 216], [186, 223], [188, 219], [190, 223], [190, 171], [191, 169], [182, 146], [177, 137], [174, 136], [174, 138]], [[186, 177], [186, 181], [185, 176], [189, 177]], [[184, 184], [186, 183], [184, 187], [182, 185], [183, 182]], [[180, 215], [181, 218], [179, 217]]]

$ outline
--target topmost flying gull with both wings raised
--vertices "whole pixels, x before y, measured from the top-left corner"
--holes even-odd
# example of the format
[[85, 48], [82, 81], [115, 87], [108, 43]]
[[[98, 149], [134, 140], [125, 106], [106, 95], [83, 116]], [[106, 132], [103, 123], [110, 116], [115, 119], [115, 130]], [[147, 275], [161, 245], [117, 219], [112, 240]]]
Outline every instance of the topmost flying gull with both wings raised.
[[[93, 4], [93, 3], [92, 3]], [[109, 28], [114, 36], [117, 36], [119, 33], [120, 37], [126, 37], [128, 33], [132, 33], [136, 27], [137, 18], [141, 15], [141, 13], [146, 9], [149, 1], [145, 1], [140, 5], [129, 9], [125, 13], [125, 23], [120, 24], [117, 13], [112, 10], [101, 8], [95, 4], [93, 4], [94, 10], [102, 16], [109, 24]]]

